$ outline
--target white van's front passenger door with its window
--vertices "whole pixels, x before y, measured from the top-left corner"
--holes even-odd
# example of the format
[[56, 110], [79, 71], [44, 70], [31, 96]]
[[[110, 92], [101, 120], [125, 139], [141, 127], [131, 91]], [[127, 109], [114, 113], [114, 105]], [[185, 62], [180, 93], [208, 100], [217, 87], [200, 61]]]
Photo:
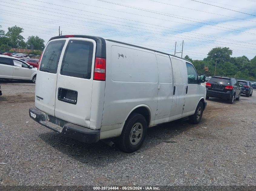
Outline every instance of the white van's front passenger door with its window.
[[186, 101], [182, 116], [194, 113], [199, 101], [198, 73], [191, 63], [186, 62]]

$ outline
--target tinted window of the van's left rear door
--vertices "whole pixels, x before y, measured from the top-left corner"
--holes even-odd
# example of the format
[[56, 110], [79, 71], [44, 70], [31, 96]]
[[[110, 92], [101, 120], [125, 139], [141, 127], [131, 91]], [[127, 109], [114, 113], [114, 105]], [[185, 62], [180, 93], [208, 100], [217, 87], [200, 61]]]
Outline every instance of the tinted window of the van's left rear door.
[[57, 73], [58, 62], [66, 40], [55, 40], [48, 43], [42, 56], [40, 71]]

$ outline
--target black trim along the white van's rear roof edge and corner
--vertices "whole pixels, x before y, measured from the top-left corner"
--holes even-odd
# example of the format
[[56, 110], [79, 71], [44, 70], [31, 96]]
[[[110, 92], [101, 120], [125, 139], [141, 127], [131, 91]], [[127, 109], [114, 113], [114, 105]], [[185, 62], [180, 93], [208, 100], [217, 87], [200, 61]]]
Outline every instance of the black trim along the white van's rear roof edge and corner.
[[[100, 58], [106, 58], [106, 41], [104, 38], [101, 37], [95, 37], [95, 36], [88, 36], [88, 35], [61, 35], [61, 36], [56, 36], [50, 38], [50, 40], [53, 39], [61, 39], [61, 38], [69, 38], [69, 37], [74, 37], [74, 38], [88, 38], [96, 41], [96, 53], [95, 57], [100, 57]], [[49, 41], [50, 41], [49, 40]]]

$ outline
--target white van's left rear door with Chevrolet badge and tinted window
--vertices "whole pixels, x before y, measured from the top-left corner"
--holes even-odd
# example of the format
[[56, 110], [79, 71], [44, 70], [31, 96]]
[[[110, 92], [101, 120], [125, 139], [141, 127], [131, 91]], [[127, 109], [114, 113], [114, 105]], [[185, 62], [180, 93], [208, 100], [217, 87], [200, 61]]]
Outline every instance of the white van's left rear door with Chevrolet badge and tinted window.
[[35, 107], [52, 116], [55, 110], [57, 70], [66, 39], [48, 42], [42, 54], [35, 84]]

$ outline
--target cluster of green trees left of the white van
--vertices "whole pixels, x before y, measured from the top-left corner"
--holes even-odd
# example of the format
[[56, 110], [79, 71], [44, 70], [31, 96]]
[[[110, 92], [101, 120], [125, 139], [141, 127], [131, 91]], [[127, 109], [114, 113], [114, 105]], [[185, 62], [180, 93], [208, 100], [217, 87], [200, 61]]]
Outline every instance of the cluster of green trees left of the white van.
[[5, 33], [5, 30], [1, 29], [0, 25], [0, 50], [9, 51], [11, 48], [22, 48], [22, 49], [34, 49], [34, 50], [43, 50], [45, 48], [45, 41], [38, 36], [28, 37], [27, 42], [25, 38], [22, 37], [23, 28], [17, 27], [8, 27], [8, 31]]

